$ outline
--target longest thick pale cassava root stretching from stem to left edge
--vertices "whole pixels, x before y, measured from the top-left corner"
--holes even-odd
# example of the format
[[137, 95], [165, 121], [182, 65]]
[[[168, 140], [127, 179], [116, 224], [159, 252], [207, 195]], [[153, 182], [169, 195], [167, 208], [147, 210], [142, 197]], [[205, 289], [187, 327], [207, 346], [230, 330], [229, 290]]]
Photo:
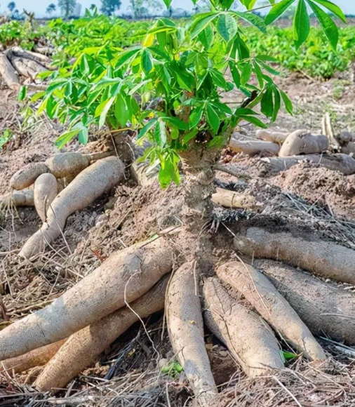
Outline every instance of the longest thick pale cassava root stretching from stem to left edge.
[[138, 243], [110, 256], [55, 301], [0, 331], [0, 360], [67, 338], [133, 302], [173, 267], [163, 238]]

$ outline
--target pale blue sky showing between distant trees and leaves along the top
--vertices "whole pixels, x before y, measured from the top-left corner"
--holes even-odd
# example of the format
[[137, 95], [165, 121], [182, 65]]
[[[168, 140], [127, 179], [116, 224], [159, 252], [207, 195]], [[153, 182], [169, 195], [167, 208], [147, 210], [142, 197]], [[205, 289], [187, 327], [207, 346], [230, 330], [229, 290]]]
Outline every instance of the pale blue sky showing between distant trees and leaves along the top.
[[[261, 1], [261, 0], [260, 0]], [[0, 0], [1, 6], [0, 11], [4, 12], [7, 10], [7, 4], [10, 0]], [[100, 6], [100, 0], [77, 0], [83, 6], [83, 10], [89, 7], [91, 4], [97, 4]], [[37, 17], [42, 17], [46, 13], [46, 8], [48, 4], [57, 3], [57, 0], [15, 0], [16, 8], [22, 11], [22, 8], [26, 8], [28, 11], [34, 11]], [[354, 0], [333, 0], [333, 3], [337, 4], [342, 8], [344, 13], [355, 14], [355, 1]], [[191, 0], [173, 0], [173, 7], [175, 8], [192, 8]], [[128, 0], [122, 0], [121, 11], [127, 10]]]

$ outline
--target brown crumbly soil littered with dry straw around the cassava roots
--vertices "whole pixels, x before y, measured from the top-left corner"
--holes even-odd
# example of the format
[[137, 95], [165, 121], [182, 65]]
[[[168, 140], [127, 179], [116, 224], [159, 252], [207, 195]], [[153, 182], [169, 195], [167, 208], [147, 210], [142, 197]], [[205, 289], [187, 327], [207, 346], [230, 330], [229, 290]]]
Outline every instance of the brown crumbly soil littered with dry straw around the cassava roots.
[[[278, 81], [295, 100], [296, 114], [290, 117], [282, 113], [276, 124], [272, 124], [274, 128], [292, 131], [305, 127], [319, 132], [321, 118], [327, 111], [332, 115], [335, 131], [354, 127], [355, 84], [346, 74], [328, 82], [317, 82], [296, 74], [286, 76], [283, 72]], [[345, 91], [341, 97], [335, 92], [339, 81], [346, 81], [346, 85], [342, 83]], [[54, 141], [61, 128], [43, 119], [24, 129], [18, 119], [20, 106], [13, 95], [0, 91], [0, 100], [1, 131], [11, 128], [15, 134], [14, 140], [0, 153], [1, 195], [9, 192], [8, 181], [15, 171], [58, 152]], [[235, 136], [254, 138], [255, 128], [241, 124]], [[79, 150], [95, 151], [95, 143], [86, 149], [76, 142], [65, 147], [65, 151]], [[312, 229], [325, 239], [355, 248], [355, 223], [351, 222], [355, 220], [354, 177], [311, 164], [298, 164], [272, 175], [265, 172], [260, 158], [232, 154], [228, 150], [221, 161], [230, 163], [239, 176], [217, 172], [217, 184], [236, 191], [249, 188], [257, 197], [260, 209], [248, 214], [215, 208], [212, 225], [220, 235], [213, 239], [215, 255], [220, 261], [232, 257], [230, 232], [249, 217], [265, 225], [277, 223], [282, 227], [287, 223], [287, 227], [292, 224], [300, 229]], [[0, 309], [0, 329], [8, 325], [8, 320], [15, 321], [51, 302], [114, 251], [152, 237], [167, 227], [181, 225], [182, 204], [181, 189], [174, 185], [161, 189], [157, 182], [149, 187], [123, 182], [85, 210], [71, 215], [64, 238], [57, 239], [53, 249], [34, 262], [17, 256], [22, 244], [40, 225], [34, 208], [3, 211], [0, 214], [0, 294], [4, 312]], [[62, 399], [34, 392], [30, 383], [38, 369], [15, 379], [0, 374], [0, 406], [25, 406], [29, 401], [38, 407], [58, 405], [57, 401], [67, 406], [190, 405], [191, 393], [184, 373], [166, 369], [161, 373], [161, 367], [174, 357], [163, 314], [145, 322], [159, 349], [160, 361], [156, 360], [142, 325], [137, 323], [107, 349], [96, 366], [58, 394]], [[340, 344], [322, 340], [330, 356], [326, 369], [291, 359], [287, 371], [255, 382], [246, 378], [227, 349], [208, 331], [206, 343], [220, 386], [218, 406], [355, 406], [354, 357], [341, 352]]]

